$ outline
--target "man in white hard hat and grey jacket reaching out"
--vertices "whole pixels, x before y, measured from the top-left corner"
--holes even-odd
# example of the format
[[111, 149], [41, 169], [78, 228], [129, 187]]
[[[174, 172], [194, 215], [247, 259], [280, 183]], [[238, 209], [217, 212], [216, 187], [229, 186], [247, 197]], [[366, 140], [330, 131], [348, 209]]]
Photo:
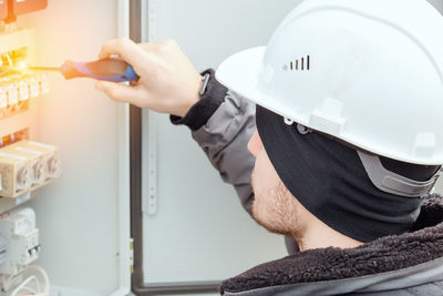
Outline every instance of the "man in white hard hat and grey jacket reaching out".
[[308, 0], [219, 67], [231, 91], [172, 40], [107, 42], [141, 79], [96, 86], [189, 126], [256, 221], [297, 242], [224, 295], [443, 295], [441, 29], [425, 1]]

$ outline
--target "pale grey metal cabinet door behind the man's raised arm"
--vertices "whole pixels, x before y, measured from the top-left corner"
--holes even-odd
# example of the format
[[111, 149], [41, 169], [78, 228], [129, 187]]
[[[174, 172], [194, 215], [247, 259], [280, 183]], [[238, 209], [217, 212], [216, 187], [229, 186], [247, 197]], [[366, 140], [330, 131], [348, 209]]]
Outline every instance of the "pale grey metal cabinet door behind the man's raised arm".
[[[267, 44], [299, 2], [142, 1], [142, 35], [144, 41], [173, 38], [198, 70], [217, 68], [236, 51]], [[249, 217], [187, 127], [143, 110], [142, 159], [143, 244], [135, 242], [135, 265], [143, 258], [143, 266], [135, 268], [137, 295], [215, 290], [224, 278], [287, 255], [282, 236]]]

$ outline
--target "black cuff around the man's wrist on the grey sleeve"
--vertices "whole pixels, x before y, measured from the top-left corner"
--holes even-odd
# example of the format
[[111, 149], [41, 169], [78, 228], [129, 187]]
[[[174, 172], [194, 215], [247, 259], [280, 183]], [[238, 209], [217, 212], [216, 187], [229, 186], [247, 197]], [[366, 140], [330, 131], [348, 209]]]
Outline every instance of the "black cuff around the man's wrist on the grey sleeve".
[[225, 102], [228, 91], [222, 83], [215, 79], [215, 71], [208, 69], [202, 72], [202, 75], [210, 74], [205, 93], [200, 95], [200, 100], [193, 105], [184, 118], [171, 115], [171, 122], [175, 125], [187, 125], [192, 131], [197, 131], [206, 124], [218, 106]]

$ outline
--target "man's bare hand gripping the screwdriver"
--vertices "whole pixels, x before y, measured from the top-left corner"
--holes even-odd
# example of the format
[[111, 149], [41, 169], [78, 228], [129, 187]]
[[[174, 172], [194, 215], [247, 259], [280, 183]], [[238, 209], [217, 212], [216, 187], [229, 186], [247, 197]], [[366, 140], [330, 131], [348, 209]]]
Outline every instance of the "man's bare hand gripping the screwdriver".
[[112, 54], [120, 55], [140, 75], [132, 86], [99, 81], [95, 86], [112, 100], [182, 118], [199, 100], [202, 75], [175, 41], [136, 44], [128, 39], [111, 40], [99, 58]]

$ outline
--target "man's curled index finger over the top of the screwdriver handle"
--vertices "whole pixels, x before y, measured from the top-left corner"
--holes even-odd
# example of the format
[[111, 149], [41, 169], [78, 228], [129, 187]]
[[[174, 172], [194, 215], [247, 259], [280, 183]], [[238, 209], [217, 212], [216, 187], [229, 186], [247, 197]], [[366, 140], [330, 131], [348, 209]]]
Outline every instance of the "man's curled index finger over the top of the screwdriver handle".
[[120, 55], [123, 60], [132, 65], [136, 65], [140, 61], [146, 59], [146, 53], [137, 47], [130, 39], [114, 39], [103, 44], [102, 50], [99, 54], [100, 59], [109, 58], [112, 54]]

